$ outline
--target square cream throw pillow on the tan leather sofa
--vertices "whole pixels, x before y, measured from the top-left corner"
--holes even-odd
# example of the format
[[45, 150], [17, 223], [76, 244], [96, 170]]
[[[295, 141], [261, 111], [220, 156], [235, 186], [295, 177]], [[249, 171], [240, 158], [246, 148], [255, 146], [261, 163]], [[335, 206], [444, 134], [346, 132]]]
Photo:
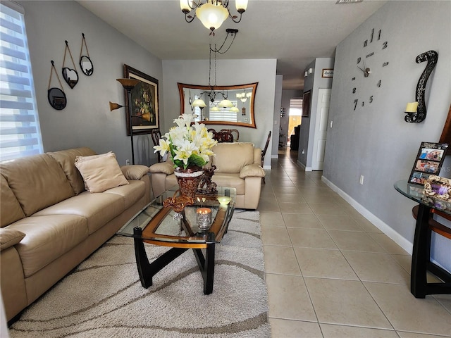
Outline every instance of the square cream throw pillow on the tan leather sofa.
[[92, 193], [128, 184], [116, 155], [111, 151], [101, 155], [77, 156], [75, 167], [80, 171], [87, 190]]

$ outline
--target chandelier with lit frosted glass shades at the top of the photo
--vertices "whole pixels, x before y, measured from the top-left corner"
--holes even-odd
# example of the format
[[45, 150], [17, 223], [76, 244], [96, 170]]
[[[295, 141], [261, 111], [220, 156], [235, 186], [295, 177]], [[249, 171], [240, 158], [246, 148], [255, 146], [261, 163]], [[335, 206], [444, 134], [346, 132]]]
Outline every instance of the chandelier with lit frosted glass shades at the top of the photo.
[[[247, 0], [235, 0], [239, 17], [230, 13], [228, 4], [229, 0], [180, 0], [180, 8], [185, 14], [186, 22], [191, 23], [197, 16], [202, 25], [211, 30], [210, 35], [214, 35], [214, 30], [221, 27], [227, 18], [231, 18], [234, 23], [241, 21], [241, 15], [247, 8]], [[195, 13], [192, 15], [194, 10]]]

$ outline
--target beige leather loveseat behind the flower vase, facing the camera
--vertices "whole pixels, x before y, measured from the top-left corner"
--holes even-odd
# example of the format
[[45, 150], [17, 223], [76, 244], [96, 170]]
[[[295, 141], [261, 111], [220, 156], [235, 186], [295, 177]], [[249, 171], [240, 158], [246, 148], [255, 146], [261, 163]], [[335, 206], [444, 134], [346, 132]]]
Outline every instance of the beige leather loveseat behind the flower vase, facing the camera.
[[[236, 208], [257, 209], [261, 179], [265, 175], [261, 168], [261, 149], [252, 143], [236, 142], [218, 143], [212, 151], [216, 156], [212, 156], [207, 166], [216, 165], [216, 170], [211, 180], [218, 186], [237, 189]], [[154, 196], [177, 184], [171, 161], [151, 165], [149, 171]]]

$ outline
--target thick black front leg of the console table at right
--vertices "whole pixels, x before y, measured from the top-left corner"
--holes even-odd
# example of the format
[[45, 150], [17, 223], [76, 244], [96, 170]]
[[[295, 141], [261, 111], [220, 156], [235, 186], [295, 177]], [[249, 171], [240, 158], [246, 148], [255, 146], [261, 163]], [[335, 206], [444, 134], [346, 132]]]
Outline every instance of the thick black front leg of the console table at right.
[[416, 218], [414, 246], [412, 249], [412, 270], [410, 273], [410, 292], [416, 298], [426, 296], [426, 270], [431, 248], [431, 230], [428, 229], [430, 208], [419, 205]]

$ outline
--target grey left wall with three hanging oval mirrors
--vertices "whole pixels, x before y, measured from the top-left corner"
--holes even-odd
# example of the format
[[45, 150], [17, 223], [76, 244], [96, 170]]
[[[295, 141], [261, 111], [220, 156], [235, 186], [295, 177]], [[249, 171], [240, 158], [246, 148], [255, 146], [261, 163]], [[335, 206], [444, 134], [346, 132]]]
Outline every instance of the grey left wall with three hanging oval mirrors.
[[[89, 146], [97, 153], [114, 151], [119, 163], [131, 160], [130, 137], [126, 135], [125, 108], [109, 111], [109, 101], [125, 105], [125, 91], [116, 78], [124, 77], [123, 64], [159, 80], [159, 107], [163, 111], [161, 60], [142, 49], [80, 6], [75, 1], [19, 1], [25, 8], [25, 24], [35, 81], [37, 108], [44, 151]], [[94, 64], [86, 76], [78, 64], [82, 33]], [[79, 81], [73, 89], [63, 80], [65, 40], [72, 53]], [[66, 93], [67, 106], [56, 111], [47, 101], [51, 63]], [[66, 67], [73, 68], [66, 55]], [[60, 87], [53, 75], [52, 87]], [[135, 136], [135, 163], [156, 162], [148, 135]]]

